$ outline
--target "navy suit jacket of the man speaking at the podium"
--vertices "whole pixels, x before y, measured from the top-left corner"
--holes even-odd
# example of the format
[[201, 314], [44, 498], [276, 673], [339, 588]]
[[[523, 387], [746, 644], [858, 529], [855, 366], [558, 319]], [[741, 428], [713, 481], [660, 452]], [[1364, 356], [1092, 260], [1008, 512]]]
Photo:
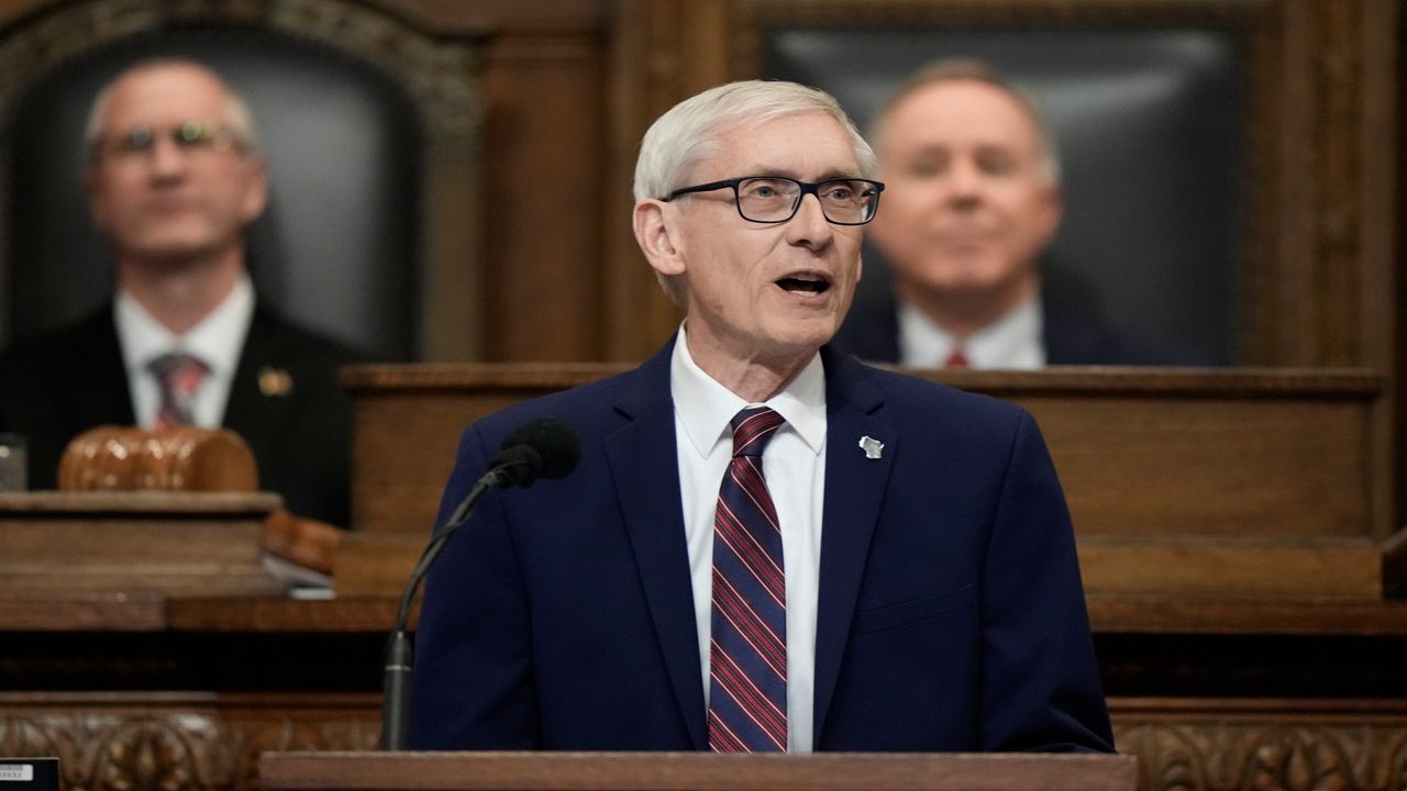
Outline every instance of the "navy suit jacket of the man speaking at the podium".
[[[702, 750], [673, 343], [464, 434], [440, 521], [553, 415], [580, 467], [485, 495], [431, 573], [421, 749]], [[817, 750], [1112, 749], [1069, 517], [1020, 408], [822, 350]], [[878, 460], [861, 436], [884, 442]]]

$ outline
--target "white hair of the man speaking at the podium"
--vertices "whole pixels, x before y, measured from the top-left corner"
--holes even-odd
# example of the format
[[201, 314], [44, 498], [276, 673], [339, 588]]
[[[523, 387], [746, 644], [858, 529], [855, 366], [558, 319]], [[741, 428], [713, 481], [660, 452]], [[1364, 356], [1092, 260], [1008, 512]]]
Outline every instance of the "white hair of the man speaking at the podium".
[[[874, 151], [833, 96], [791, 82], [743, 80], [685, 99], [650, 125], [635, 162], [635, 200], [663, 198], [688, 186], [694, 169], [720, 151], [725, 134], [802, 113], [834, 118], [850, 138], [860, 176], [874, 176]], [[657, 277], [664, 293], [682, 304], [680, 283], [666, 274]]]

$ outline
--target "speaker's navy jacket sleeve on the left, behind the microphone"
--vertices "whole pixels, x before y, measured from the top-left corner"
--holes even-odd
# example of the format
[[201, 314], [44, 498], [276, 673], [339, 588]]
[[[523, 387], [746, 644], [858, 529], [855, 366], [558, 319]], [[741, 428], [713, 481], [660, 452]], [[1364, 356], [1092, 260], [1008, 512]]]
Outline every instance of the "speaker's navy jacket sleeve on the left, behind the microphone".
[[[487, 469], [483, 436], [460, 441], [436, 524]], [[528, 597], [497, 491], [449, 539], [415, 633], [411, 743], [419, 750], [526, 750], [540, 743]]]

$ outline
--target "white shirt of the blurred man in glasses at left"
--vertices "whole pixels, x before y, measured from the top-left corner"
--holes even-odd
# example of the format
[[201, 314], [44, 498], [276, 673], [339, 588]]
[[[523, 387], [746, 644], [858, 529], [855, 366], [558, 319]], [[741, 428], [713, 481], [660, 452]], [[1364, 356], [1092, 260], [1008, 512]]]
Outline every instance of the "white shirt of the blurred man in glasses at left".
[[196, 391], [191, 417], [201, 428], [218, 428], [225, 418], [235, 366], [255, 315], [255, 289], [249, 276], [241, 276], [229, 296], [184, 335], [166, 329], [127, 291], [117, 293], [113, 314], [136, 425], [151, 428], [160, 411], [160, 383], [148, 366], [162, 355], [183, 352], [200, 357], [210, 367]]

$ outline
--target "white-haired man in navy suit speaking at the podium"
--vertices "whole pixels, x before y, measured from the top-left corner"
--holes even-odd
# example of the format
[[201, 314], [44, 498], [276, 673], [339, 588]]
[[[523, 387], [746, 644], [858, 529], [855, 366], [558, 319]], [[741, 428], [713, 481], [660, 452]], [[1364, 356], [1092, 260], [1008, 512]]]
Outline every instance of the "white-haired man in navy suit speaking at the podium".
[[[640, 367], [466, 431], [440, 524], [526, 421], [566, 421], [582, 457], [491, 491], [447, 542], [416, 632], [416, 747], [1112, 750], [1031, 417], [827, 345], [872, 169], [834, 100], [794, 83], [715, 87], [650, 128], [635, 234], [687, 318]], [[756, 462], [730, 424], [758, 407], [781, 425]], [[730, 481], [779, 550], [737, 539], [777, 536], [733, 512]], [[772, 604], [723, 598], [727, 553], [774, 563], [737, 586], [768, 577]], [[733, 631], [768, 660], [733, 662]]]

